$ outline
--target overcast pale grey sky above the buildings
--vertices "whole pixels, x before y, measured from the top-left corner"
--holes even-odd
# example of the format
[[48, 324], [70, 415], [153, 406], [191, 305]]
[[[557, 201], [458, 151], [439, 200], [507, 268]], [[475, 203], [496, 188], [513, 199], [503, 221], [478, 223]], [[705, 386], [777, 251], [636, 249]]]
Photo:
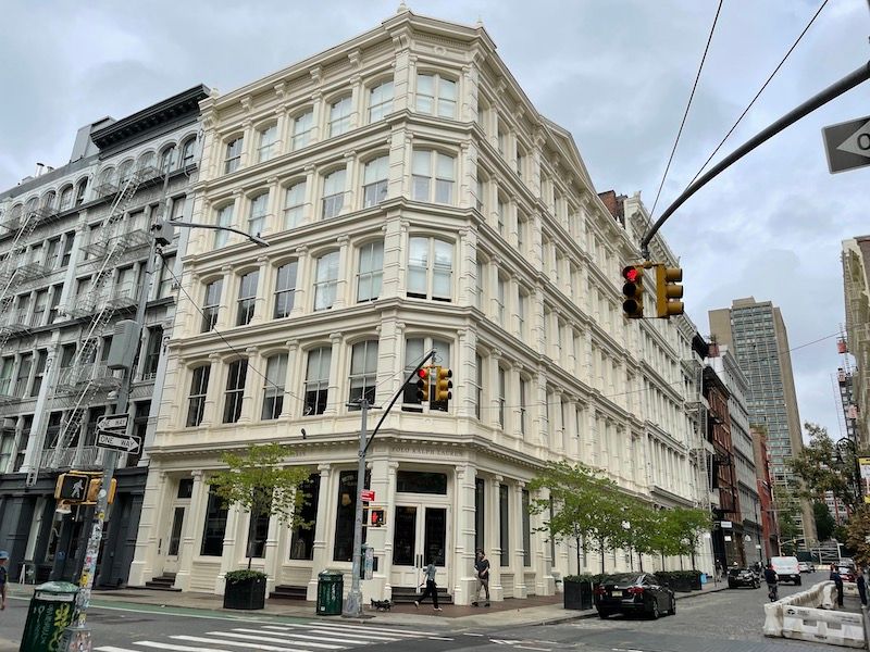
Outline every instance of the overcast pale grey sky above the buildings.
[[[822, 0], [724, 0], [657, 214], [685, 188]], [[478, 18], [538, 111], [569, 129], [598, 191], [651, 208], [717, 0], [409, 0]], [[196, 84], [226, 92], [371, 29], [399, 0], [2, 3], [0, 190], [62, 165], [76, 129]], [[723, 148], [732, 151], [870, 59], [867, 0], [830, 0]], [[684, 268], [687, 312], [754, 296], [782, 309], [801, 421], [837, 438], [843, 364], [841, 241], [870, 234], [870, 167], [828, 172], [821, 128], [870, 114], [870, 83], [761, 146], [692, 198], [661, 233]], [[721, 155], [721, 154], [720, 154]], [[870, 406], [865, 406], [870, 409]]]

